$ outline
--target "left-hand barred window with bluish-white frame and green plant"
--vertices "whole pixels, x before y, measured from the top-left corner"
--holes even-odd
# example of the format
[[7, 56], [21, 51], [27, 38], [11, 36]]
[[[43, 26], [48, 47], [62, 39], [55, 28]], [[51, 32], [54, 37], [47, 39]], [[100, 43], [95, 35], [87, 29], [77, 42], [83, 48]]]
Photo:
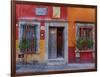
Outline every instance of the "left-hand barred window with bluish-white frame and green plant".
[[39, 51], [39, 27], [37, 24], [21, 24], [20, 32], [20, 50], [22, 52], [34, 52]]

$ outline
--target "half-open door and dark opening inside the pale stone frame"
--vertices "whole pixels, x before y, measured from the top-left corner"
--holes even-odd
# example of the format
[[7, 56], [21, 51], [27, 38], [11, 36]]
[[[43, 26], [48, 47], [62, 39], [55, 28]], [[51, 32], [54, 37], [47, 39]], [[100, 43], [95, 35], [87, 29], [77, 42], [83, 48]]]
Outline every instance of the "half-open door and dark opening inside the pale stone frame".
[[64, 27], [49, 27], [49, 59], [64, 58]]

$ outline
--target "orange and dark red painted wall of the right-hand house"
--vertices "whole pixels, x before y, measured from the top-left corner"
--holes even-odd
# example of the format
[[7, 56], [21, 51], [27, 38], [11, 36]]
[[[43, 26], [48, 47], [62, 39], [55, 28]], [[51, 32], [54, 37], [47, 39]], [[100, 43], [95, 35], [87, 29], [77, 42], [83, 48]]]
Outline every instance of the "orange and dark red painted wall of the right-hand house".
[[[95, 22], [95, 9], [68, 7], [68, 55], [69, 62], [75, 62], [76, 21]], [[80, 53], [80, 60], [91, 62], [92, 52]]]

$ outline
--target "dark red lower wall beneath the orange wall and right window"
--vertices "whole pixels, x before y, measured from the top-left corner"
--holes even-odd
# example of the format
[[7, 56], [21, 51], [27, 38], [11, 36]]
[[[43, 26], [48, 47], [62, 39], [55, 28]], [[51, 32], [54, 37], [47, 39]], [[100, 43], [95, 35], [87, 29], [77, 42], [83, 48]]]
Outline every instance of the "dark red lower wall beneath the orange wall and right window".
[[[68, 62], [69, 63], [76, 63], [75, 57], [75, 47], [68, 47]], [[91, 52], [80, 52], [80, 58], [77, 63], [91, 63], [94, 62], [93, 54]]]

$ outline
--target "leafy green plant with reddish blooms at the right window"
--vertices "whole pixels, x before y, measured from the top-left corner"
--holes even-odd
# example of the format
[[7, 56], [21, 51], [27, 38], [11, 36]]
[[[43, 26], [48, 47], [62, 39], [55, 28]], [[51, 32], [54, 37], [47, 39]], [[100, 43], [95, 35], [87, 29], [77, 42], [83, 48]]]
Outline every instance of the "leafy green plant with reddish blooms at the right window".
[[93, 47], [93, 41], [91, 39], [79, 38], [76, 42], [76, 46], [80, 50], [91, 49]]

